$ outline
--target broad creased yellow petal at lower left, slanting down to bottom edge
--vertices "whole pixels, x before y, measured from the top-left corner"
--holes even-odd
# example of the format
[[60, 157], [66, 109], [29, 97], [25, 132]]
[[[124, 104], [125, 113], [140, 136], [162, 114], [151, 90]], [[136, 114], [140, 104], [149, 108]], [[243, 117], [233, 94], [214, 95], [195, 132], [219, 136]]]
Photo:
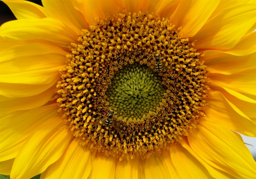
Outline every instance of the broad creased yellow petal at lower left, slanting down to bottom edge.
[[60, 117], [43, 122], [20, 149], [11, 171], [12, 179], [30, 179], [56, 162], [71, 140]]

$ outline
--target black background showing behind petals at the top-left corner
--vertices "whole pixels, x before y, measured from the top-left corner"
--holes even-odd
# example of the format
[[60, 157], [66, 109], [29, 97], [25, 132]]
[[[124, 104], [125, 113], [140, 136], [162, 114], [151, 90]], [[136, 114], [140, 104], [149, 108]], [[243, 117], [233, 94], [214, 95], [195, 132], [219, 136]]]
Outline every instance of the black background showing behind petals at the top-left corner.
[[[28, 1], [31, 1], [33, 3], [43, 6], [41, 0], [28, 0]], [[12, 21], [15, 19], [16, 17], [13, 15], [11, 9], [3, 1], [0, 1], [0, 25], [2, 25], [4, 22]]]

